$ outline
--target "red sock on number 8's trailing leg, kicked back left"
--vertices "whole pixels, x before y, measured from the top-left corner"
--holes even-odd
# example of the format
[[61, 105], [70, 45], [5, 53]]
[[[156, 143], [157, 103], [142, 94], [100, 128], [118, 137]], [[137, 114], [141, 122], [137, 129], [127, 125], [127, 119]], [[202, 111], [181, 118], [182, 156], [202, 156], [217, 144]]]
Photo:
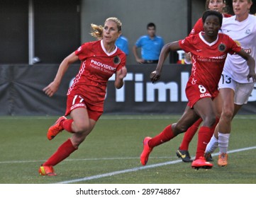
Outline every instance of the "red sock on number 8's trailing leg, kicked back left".
[[150, 139], [150, 141], [148, 141], [148, 146], [153, 148], [173, 138], [174, 134], [172, 132], [172, 124], [170, 124], [167, 127], [165, 127], [165, 129], [160, 134]]

